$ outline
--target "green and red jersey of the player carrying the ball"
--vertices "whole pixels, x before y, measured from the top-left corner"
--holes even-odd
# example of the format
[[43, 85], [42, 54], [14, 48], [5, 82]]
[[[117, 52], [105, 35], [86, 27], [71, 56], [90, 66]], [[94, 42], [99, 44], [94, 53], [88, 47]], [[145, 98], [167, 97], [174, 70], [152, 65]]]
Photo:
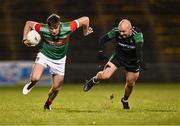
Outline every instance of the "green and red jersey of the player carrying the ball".
[[42, 47], [40, 52], [50, 59], [58, 60], [66, 56], [70, 35], [77, 29], [76, 21], [61, 22], [60, 31], [53, 36], [47, 24], [36, 24], [35, 30], [41, 35]]

